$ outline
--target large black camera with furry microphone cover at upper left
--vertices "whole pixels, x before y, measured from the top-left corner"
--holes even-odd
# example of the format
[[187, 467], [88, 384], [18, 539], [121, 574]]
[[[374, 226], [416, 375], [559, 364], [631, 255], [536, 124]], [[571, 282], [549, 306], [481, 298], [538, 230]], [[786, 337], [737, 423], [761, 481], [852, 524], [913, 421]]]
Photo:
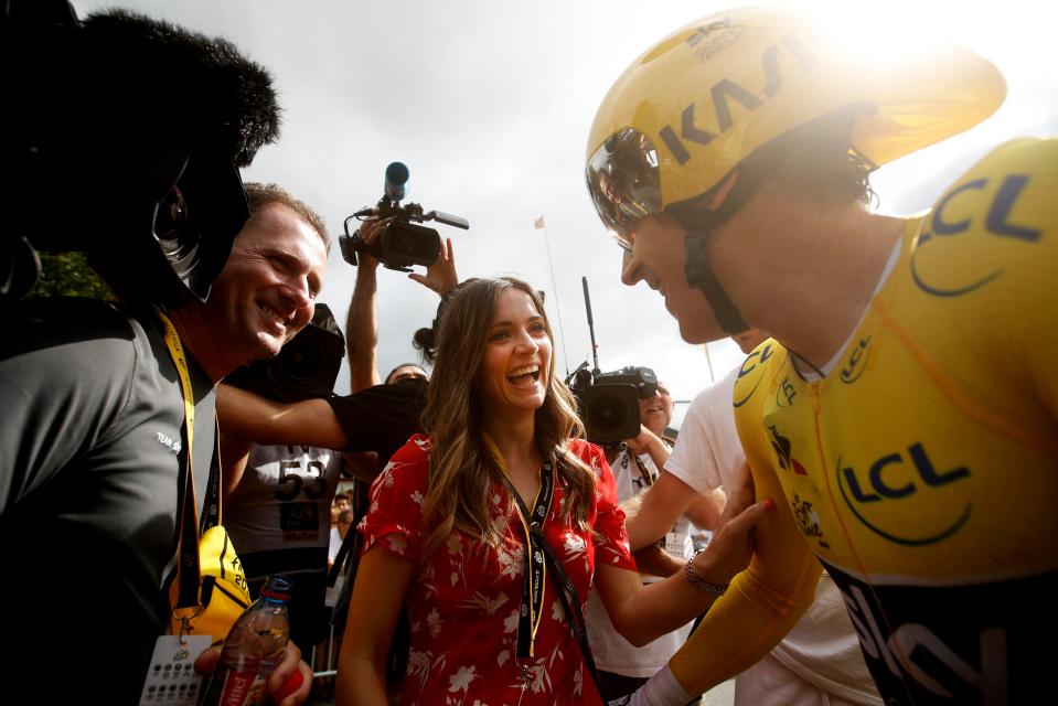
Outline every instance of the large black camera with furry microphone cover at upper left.
[[65, 0], [6, 2], [0, 57], [0, 306], [32, 290], [39, 252], [65, 250], [128, 301], [205, 301], [249, 216], [238, 168], [279, 132], [268, 72], [220, 38]]

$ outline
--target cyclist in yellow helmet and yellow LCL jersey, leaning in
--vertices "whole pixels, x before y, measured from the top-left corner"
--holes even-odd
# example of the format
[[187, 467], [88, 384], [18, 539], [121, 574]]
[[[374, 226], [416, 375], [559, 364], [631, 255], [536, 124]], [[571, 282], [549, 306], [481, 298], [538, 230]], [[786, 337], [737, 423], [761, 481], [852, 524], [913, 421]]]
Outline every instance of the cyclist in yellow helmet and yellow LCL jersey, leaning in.
[[622, 279], [688, 342], [773, 336], [733, 404], [758, 498], [787, 500], [639, 698], [686, 703], [752, 665], [824, 567], [887, 703], [1048, 693], [1058, 141], [998, 147], [930, 212], [866, 207], [872, 170], [1004, 96], [966, 50], [872, 62], [757, 8], [670, 34], [603, 99], [586, 173]]

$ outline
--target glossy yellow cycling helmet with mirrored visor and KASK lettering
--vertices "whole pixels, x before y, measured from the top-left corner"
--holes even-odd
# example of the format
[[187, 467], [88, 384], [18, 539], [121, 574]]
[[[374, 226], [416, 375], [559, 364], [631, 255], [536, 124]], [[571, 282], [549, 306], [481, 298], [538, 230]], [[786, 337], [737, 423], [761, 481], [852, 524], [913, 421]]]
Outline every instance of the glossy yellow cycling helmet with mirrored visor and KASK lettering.
[[980, 122], [1005, 94], [998, 69], [964, 49], [872, 60], [791, 10], [734, 9], [673, 32], [621, 74], [588, 137], [588, 190], [629, 247], [639, 218], [708, 192], [816, 118], [854, 109], [849, 149], [876, 168]]

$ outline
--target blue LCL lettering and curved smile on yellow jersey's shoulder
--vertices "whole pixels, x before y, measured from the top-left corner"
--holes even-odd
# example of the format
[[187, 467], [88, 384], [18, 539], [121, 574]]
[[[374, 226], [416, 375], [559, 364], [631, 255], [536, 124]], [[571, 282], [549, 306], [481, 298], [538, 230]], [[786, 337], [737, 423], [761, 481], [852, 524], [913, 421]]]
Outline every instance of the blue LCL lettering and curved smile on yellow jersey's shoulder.
[[[998, 182], [998, 189], [987, 212], [984, 214], [984, 231], [997, 237], [1013, 238], [1024, 243], [1036, 243], [1043, 236], [1043, 232], [1037, 228], [1028, 227], [1025, 224], [1014, 222], [1012, 212], [1017, 205], [1017, 200], [1032, 180], [1025, 174], [1008, 174]], [[1003, 275], [1003, 268], [996, 267], [991, 270], [984, 270], [973, 275], [966, 281], [938, 281], [939, 278], [931, 277], [923, 269], [929, 269], [922, 265], [922, 253], [932, 252], [934, 243], [940, 243], [944, 238], [953, 235], [966, 233], [975, 225], [980, 225], [977, 220], [981, 214], [979, 208], [974, 207], [970, 192], [984, 191], [993, 186], [995, 180], [975, 179], [964, 184], [955, 186], [945, 195], [933, 208], [929, 226], [917, 238], [915, 249], [911, 252], [911, 276], [919, 289], [934, 297], [961, 297], [976, 289], [981, 289], [988, 282], [994, 281]], [[965, 204], [966, 207], [960, 211]], [[961, 214], [961, 215], [957, 215]], [[934, 256], [936, 257], [936, 256]]]

